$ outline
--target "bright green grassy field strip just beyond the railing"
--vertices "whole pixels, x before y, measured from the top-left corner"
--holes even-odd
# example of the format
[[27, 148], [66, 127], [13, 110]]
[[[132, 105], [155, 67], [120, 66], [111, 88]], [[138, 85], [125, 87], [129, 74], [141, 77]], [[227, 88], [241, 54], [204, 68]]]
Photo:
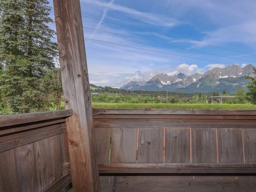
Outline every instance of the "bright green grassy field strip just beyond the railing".
[[107, 109], [244, 109], [255, 110], [253, 104], [127, 104], [92, 103], [93, 108]]

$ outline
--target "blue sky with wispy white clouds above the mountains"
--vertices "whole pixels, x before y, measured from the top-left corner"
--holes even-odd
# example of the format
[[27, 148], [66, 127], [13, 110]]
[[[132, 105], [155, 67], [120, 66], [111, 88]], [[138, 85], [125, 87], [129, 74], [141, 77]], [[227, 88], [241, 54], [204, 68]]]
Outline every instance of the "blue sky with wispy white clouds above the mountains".
[[[232, 64], [241, 67], [248, 63], [256, 65], [253, 63], [256, 62], [256, 55], [246, 54], [247, 52], [256, 53], [255, 7], [254, 0], [81, 0], [82, 15], [145, 31], [83, 17], [85, 27], [239, 59], [221, 58], [84, 28], [86, 38], [158, 51], [149, 52], [85, 40], [90, 83], [98, 86], [120, 87], [129, 81], [148, 80], [159, 73], [173, 75], [182, 72], [190, 75], [196, 72], [203, 73], [213, 67]], [[51, 16], [53, 17], [53, 13]], [[191, 40], [199, 44], [156, 33]], [[216, 49], [202, 44], [241, 52]]]

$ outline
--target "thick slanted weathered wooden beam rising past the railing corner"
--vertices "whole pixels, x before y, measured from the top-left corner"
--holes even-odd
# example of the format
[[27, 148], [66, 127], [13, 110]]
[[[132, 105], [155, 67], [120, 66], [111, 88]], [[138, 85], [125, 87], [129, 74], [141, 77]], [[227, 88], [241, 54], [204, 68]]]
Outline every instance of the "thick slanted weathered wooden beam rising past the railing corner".
[[79, 0], [53, 0], [74, 191], [100, 191], [88, 69]]

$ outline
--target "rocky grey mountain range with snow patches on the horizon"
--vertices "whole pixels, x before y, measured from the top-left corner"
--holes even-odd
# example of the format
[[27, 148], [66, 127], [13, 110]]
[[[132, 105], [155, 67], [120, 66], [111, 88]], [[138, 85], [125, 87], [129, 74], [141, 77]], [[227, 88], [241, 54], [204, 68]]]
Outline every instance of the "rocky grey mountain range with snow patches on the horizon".
[[181, 93], [210, 93], [225, 92], [234, 93], [239, 86], [246, 89], [248, 79], [246, 76], [254, 76], [253, 65], [239, 67], [230, 65], [225, 68], [212, 68], [204, 74], [177, 74], [168, 76], [167, 74], [157, 74], [148, 81], [131, 81], [120, 87], [124, 90], [146, 90], [146, 91], [170, 91]]

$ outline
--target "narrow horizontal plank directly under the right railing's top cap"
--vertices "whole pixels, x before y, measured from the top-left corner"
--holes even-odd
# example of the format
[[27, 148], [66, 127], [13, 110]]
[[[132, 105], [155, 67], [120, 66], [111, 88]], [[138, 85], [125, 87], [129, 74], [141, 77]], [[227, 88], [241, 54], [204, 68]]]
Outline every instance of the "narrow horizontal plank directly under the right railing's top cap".
[[94, 119], [193, 119], [193, 120], [256, 120], [254, 115], [95, 115]]

